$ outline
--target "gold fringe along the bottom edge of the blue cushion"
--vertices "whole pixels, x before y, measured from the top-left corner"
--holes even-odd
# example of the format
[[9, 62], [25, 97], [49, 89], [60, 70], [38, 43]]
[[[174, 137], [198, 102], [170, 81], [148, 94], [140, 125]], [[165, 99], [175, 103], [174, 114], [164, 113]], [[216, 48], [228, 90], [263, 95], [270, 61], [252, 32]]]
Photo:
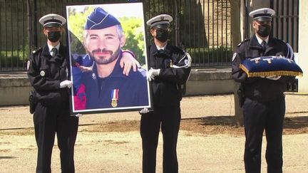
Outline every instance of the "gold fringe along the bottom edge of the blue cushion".
[[240, 64], [240, 68], [245, 71], [248, 78], [250, 77], [260, 77], [260, 76], [270, 76], [270, 75], [292, 75], [292, 76], [302, 76], [303, 73], [297, 71], [265, 71], [265, 72], [249, 72], [249, 70], [242, 64]]

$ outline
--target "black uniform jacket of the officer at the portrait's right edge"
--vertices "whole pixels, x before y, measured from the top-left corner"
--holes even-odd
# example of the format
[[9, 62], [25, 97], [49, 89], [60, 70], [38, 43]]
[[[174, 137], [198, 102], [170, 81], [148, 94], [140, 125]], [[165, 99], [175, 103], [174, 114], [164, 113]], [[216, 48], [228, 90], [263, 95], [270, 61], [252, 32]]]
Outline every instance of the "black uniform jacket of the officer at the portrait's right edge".
[[178, 62], [185, 56], [183, 50], [171, 46], [169, 43], [164, 51], [158, 51], [153, 43], [150, 46], [150, 68], [160, 68], [160, 74], [152, 80], [153, 105], [170, 106], [180, 105], [182, 93], [180, 85], [188, 80], [190, 67], [188, 68], [171, 68], [171, 64], [180, 65]]

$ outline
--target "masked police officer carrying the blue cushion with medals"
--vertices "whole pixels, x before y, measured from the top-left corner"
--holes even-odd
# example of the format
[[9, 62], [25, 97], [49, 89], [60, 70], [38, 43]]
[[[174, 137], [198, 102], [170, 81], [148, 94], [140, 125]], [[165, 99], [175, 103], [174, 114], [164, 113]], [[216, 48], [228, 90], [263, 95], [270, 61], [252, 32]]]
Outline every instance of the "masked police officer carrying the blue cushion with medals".
[[285, 113], [284, 91], [289, 76], [247, 78], [240, 69], [245, 58], [260, 56], [285, 56], [293, 58], [292, 48], [287, 43], [270, 36], [274, 10], [263, 8], [250, 12], [255, 35], [237, 46], [233, 55], [232, 78], [241, 83], [245, 100], [242, 105], [245, 125], [245, 170], [260, 172], [262, 134], [267, 139], [267, 172], [282, 172], [282, 127]]

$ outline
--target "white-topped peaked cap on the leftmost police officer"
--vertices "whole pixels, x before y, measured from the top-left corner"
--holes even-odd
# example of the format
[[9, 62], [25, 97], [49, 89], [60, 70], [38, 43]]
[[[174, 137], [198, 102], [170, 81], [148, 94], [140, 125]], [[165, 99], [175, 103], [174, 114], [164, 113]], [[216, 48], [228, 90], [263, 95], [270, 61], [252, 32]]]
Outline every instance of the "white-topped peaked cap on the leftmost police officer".
[[66, 19], [58, 14], [47, 14], [39, 19], [44, 27], [62, 27], [66, 23]]

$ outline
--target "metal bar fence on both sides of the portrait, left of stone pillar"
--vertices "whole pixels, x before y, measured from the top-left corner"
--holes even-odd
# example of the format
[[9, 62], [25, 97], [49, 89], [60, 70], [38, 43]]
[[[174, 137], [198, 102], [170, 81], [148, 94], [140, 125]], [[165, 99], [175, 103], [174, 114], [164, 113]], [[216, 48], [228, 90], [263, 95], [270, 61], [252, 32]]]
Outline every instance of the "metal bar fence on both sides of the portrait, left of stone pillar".
[[[26, 70], [29, 52], [46, 43], [41, 16], [65, 16], [66, 4], [101, 4], [102, 0], [0, 0], [0, 71]], [[126, 2], [126, 1], [125, 1]], [[171, 42], [188, 51], [193, 66], [230, 65], [232, 38], [229, 0], [144, 0], [145, 21], [173, 16]], [[150, 43], [150, 36], [148, 36]], [[63, 38], [63, 43], [66, 39]]]

